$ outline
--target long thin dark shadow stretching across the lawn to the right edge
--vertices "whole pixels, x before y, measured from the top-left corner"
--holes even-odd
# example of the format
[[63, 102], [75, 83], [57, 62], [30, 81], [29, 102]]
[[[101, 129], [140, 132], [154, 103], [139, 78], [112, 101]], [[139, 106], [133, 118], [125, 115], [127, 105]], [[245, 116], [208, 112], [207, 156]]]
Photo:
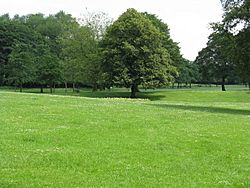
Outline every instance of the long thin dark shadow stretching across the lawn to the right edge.
[[215, 114], [231, 114], [231, 115], [250, 115], [250, 110], [231, 109], [212, 106], [191, 106], [191, 105], [175, 105], [175, 104], [150, 104], [153, 106], [165, 108], [165, 109], [177, 109], [194, 112], [209, 112]]

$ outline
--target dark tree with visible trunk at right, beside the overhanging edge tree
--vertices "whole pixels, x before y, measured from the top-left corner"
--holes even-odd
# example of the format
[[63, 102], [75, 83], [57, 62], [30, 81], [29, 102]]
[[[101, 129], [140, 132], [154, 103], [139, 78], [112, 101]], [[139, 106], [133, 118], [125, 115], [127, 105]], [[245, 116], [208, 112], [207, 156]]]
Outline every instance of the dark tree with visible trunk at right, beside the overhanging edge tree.
[[235, 48], [234, 36], [220, 24], [213, 25], [214, 32], [209, 36], [207, 47], [199, 52], [195, 62], [199, 65], [203, 80], [219, 82], [226, 91], [225, 82], [235, 71], [232, 52]]

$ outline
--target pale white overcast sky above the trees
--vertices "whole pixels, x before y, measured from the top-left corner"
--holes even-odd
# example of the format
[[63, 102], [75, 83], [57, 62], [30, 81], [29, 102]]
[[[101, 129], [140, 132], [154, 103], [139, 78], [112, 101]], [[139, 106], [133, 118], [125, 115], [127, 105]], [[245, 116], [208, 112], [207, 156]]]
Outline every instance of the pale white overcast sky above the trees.
[[221, 20], [220, 0], [0, 0], [0, 14], [54, 14], [60, 10], [80, 17], [84, 11], [101, 11], [116, 19], [128, 8], [156, 14], [170, 27], [185, 58], [194, 60], [211, 33], [209, 23]]

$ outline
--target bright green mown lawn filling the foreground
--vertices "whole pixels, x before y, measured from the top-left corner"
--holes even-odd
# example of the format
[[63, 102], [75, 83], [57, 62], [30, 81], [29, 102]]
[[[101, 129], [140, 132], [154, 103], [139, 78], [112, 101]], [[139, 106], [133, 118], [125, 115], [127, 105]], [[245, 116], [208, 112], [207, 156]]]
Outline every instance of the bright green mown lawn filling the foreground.
[[250, 186], [247, 89], [127, 94], [0, 91], [0, 187]]

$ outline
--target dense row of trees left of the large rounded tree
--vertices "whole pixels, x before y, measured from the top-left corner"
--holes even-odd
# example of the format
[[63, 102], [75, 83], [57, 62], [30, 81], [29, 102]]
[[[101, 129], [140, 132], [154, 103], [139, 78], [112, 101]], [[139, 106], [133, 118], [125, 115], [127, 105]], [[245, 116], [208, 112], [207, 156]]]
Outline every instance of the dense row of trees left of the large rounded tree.
[[20, 89], [25, 84], [35, 85], [41, 92], [59, 83], [96, 87], [99, 41], [109, 22], [102, 13], [89, 13], [81, 20], [64, 12], [48, 17], [1, 16], [0, 84]]

